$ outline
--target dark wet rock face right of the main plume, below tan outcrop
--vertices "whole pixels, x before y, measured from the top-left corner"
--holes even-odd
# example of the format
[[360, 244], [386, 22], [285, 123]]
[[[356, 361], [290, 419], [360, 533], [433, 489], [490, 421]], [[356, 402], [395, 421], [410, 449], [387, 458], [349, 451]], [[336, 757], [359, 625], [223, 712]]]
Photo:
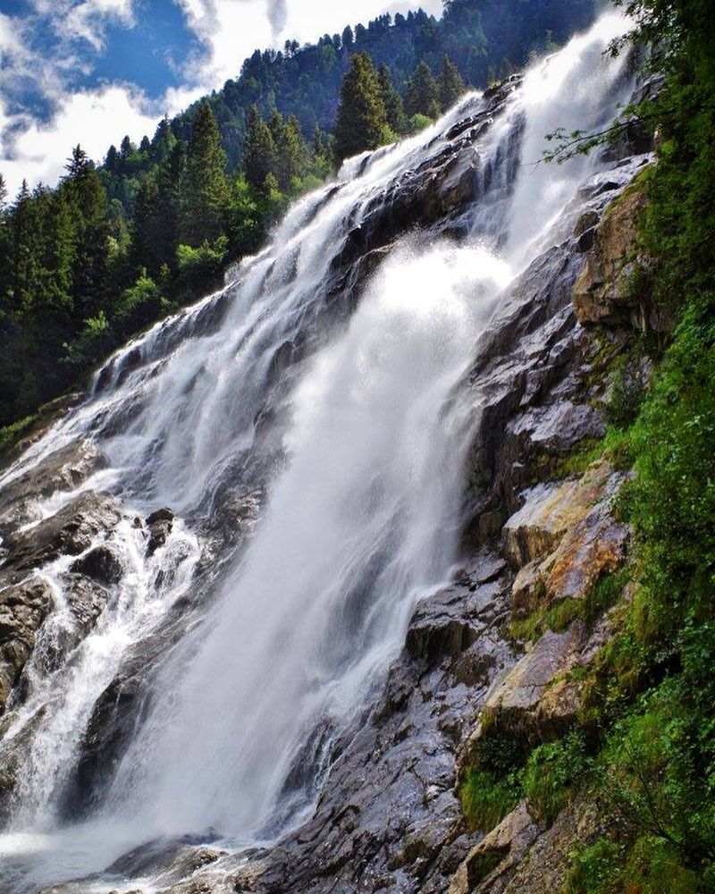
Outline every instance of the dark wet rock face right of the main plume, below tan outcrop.
[[[600, 220], [645, 161], [636, 158], [585, 186], [568, 236], [522, 274], [509, 304], [477, 344], [469, 376], [475, 415], [469, 548], [501, 536], [529, 486], [548, 478], [559, 457], [577, 444], [605, 432], [598, 409], [603, 384], [593, 375], [599, 342], [579, 325], [573, 304], [584, 266], [578, 223], [585, 214]], [[619, 333], [612, 337], [617, 345]]]

